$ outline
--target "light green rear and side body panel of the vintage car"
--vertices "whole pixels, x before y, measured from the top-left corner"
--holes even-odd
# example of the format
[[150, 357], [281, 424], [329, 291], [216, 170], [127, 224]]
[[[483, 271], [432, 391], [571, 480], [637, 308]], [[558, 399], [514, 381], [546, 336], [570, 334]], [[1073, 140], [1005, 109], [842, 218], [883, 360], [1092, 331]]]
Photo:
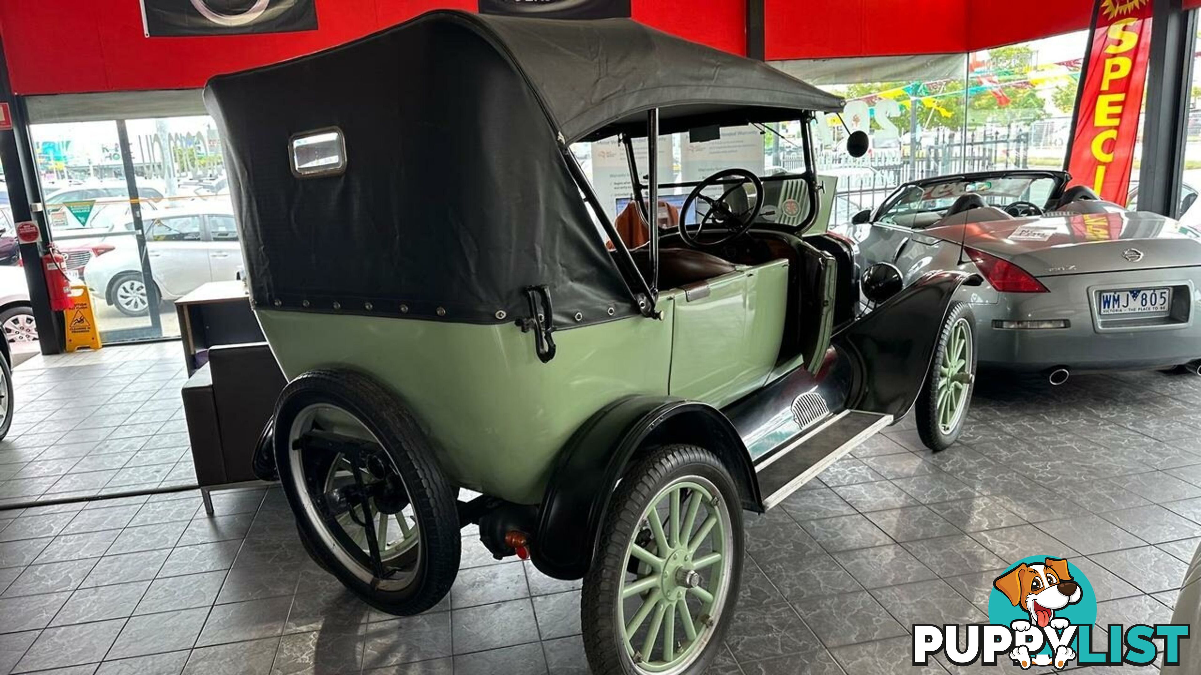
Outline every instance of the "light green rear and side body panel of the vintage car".
[[667, 291], [659, 319], [556, 330], [545, 364], [515, 323], [256, 313], [288, 380], [370, 372], [410, 406], [452, 483], [536, 504], [560, 450], [605, 405], [671, 394], [722, 406], [761, 387], [778, 357], [787, 270], [783, 261], [742, 269], [691, 301]]

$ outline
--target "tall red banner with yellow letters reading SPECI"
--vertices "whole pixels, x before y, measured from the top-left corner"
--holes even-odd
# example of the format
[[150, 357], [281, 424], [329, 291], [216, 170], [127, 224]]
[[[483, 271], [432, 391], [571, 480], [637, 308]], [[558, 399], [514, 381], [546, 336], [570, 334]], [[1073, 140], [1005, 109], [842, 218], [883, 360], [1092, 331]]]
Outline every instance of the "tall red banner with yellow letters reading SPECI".
[[1097, 0], [1068, 171], [1074, 185], [1125, 205], [1151, 50], [1152, 0]]

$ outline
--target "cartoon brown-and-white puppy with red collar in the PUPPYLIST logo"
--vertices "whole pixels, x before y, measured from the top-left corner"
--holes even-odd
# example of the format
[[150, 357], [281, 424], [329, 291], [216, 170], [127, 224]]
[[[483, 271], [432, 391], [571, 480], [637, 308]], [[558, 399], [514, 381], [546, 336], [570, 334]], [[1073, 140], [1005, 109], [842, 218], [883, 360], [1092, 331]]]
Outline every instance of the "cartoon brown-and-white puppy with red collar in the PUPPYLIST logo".
[[[1039, 628], [1050, 626], [1057, 631], [1066, 628], [1068, 620], [1056, 619], [1054, 613], [1078, 603], [1083, 595], [1080, 584], [1071, 580], [1068, 561], [1054, 557], [1048, 557], [1042, 563], [1018, 565], [998, 577], [992, 584], [998, 591], [1005, 593], [1014, 607], [1020, 607], [1029, 614], [1028, 622], [1014, 621], [1010, 625], [1017, 632], [1029, 631], [1032, 626]], [[1009, 656], [1022, 668], [1029, 668], [1032, 662], [1041, 661], [1040, 658], [1032, 659], [1024, 646], [1014, 649]], [[1076, 658], [1076, 653], [1070, 647], [1059, 647], [1051, 661], [1057, 667], [1063, 668], [1062, 664], [1072, 658]], [[1036, 664], [1050, 665], [1050, 663]]]

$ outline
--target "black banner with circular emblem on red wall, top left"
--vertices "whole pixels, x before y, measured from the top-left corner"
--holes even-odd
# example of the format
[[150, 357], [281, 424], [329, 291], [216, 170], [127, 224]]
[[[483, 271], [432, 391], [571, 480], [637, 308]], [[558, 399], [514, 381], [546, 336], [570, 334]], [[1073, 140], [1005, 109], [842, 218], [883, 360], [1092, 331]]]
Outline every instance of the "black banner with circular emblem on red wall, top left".
[[316, 0], [142, 0], [147, 37], [317, 30]]

